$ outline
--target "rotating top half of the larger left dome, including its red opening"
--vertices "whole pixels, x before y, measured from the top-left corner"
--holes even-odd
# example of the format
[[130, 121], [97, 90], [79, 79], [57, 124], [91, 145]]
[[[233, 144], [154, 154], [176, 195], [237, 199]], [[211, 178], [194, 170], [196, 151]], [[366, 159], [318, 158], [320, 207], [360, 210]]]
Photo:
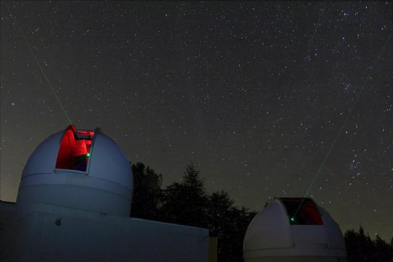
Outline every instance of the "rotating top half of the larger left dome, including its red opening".
[[77, 130], [70, 125], [64, 131], [51, 135], [30, 155], [21, 180], [31, 175], [64, 172], [112, 181], [131, 190], [134, 186], [132, 169], [125, 153], [99, 130]]

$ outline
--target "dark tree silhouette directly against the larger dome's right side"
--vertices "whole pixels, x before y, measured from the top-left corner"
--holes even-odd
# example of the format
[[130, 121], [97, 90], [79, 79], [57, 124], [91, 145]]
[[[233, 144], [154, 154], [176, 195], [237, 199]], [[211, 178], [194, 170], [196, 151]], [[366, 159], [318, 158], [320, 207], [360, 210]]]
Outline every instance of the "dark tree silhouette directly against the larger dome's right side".
[[131, 203], [131, 216], [154, 220], [157, 218], [161, 198], [162, 174], [145, 167], [143, 163], [132, 165], [134, 173], [134, 195]]

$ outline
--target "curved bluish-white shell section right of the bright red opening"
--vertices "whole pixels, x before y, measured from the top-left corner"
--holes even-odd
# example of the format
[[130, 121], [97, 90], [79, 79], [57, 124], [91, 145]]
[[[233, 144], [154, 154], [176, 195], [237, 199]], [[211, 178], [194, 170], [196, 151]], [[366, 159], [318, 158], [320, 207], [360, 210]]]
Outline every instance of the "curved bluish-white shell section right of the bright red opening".
[[132, 189], [132, 169], [123, 150], [103, 134], [97, 134], [93, 143], [88, 176], [113, 181]]

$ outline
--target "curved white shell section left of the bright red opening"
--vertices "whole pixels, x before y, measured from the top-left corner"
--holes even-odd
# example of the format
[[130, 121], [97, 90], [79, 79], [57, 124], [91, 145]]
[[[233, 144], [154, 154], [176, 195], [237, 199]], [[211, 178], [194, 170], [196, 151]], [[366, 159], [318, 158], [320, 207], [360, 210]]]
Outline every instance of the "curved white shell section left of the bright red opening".
[[37, 146], [26, 162], [21, 179], [34, 174], [53, 173], [63, 134], [64, 131], [57, 132]]

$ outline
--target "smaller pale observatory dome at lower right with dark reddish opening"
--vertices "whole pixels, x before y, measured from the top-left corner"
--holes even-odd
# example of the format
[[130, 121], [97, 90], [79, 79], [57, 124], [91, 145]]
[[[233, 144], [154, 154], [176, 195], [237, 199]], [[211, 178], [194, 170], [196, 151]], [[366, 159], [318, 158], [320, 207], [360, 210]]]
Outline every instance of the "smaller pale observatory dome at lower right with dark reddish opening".
[[347, 261], [339, 225], [311, 198], [274, 198], [251, 221], [244, 262]]

